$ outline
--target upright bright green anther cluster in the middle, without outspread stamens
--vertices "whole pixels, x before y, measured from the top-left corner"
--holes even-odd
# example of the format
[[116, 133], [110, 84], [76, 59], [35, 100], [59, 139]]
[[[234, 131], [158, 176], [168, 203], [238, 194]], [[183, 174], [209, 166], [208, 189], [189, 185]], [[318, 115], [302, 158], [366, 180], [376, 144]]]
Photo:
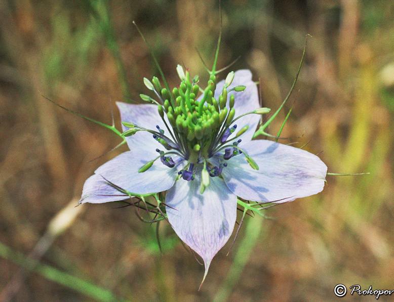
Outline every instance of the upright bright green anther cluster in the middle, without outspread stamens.
[[[190, 80], [188, 70], [184, 72], [180, 65], [177, 71], [181, 84], [179, 88], [172, 90], [172, 95], [166, 88], [161, 88], [157, 78], [153, 78], [152, 83], [145, 81], [145, 84], [161, 98], [163, 106], [159, 104], [159, 113], [162, 117], [164, 114], [167, 115], [175, 140], [182, 148], [185, 160], [192, 164], [202, 163], [214, 155], [213, 152], [220, 137], [233, 121], [235, 115], [233, 94], [229, 96], [228, 107], [226, 103], [228, 86], [232, 82], [234, 72], [228, 74], [221, 94], [216, 99], [214, 97], [216, 89], [214, 74], [210, 75], [208, 86], [203, 90], [198, 85], [198, 76]], [[244, 89], [245, 86], [237, 86], [232, 90], [243, 91]], [[200, 91], [204, 94], [200, 100], [197, 100], [196, 96]], [[246, 129], [243, 132], [245, 131]]]

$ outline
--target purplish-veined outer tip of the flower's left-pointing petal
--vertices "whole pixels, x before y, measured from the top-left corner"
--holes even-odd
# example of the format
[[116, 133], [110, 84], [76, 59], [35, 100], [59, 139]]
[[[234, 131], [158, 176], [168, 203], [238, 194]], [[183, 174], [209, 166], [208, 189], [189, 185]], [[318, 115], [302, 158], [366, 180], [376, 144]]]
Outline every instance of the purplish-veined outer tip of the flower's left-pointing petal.
[[85, 181], [79, 203], [104, 203], [125, 199], [129, 199], [129, 196], [116, 190], [101, 175], [94, 174]]

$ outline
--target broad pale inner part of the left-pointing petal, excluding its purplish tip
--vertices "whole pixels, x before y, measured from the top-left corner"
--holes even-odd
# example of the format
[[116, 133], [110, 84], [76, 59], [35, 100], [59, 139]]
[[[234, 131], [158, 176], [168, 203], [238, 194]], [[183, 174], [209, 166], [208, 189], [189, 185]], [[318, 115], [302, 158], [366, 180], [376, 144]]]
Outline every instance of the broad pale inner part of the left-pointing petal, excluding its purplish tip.
[[138, 172], [156, 156], [157, 153], [147, 151], [125, 152], [99, 167], [95, 173], [132, 194], [163, 192], [174, 184], [182, 163], [169, 168], [158, 159], [147, 171]]

